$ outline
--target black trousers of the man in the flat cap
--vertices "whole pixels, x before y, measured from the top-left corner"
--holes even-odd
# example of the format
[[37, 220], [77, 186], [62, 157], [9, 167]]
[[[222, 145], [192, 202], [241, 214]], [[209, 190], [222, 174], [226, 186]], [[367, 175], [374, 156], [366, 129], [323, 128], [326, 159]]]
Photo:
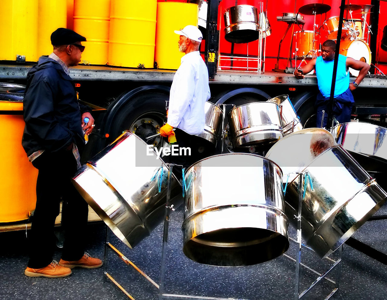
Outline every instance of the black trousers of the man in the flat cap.
[[54, 225], [62, 198], [62, 226], [65, 232], [62, 259], [76, 261], [84, 254], [88, 206], [70, 179], [77, 170], [72, 151], [43, 152], [33, 160], [39, 170], [36, 208], [29, 235], [30, 268], [48, 266], [53, 259]]

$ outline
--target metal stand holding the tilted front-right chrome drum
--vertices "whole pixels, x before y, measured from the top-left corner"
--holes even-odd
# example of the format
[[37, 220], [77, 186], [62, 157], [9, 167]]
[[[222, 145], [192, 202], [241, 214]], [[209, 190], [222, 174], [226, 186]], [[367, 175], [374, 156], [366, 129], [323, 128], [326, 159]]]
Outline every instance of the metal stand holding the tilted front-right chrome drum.
[[[308, 247], [308, 246], [306, 246], [306, 245], [304, 245], [304, 244], [302, 244], [302, 241], [301, 241], [301, 219], [302, 219], [301, 218], [302, 217], [301, 210], [302, 210], [302, 202], [303, 202], [303, 190], [304, 190], [304, 188], [307, 188], [307, 187], [304, 187], [304, 182], [303, 182], [303, 177], [305, 175], [305, 172], [296, 172], [296, 173], [293, 173], [293, 174], [298, 174], [298, 176], [299, 176], [299, 181], [298, 181], [299, 182], [299, 184], [298, 184], [298, 191], [299, 191], [299, 194], [298, 194], [299, 195], [299, 198], [298, 198], [299, 199], [299, 201], [298, 201], [298, 215], [295, 216], [295, 218], [297, 218], [297, 240], [294, 240], [294, 239], [291, 239], [291, 238], [289, 238], [289, 239], [292, 240], [293, 242], [296, 242], [296, 244], [298, 244], [298, 247], [297, 247], [297, 251], [296, 251], [296, 259], [294, 259], [293, 257], [288, 256], [285, 253], [283, 255], [288, 257], [292, 261], [296, 262], [296, 274], [295, 274], [296, 277], [295, 277], [295, 294], [294, 294], [294, 299], [298, 300], [298, 299], [303, 298], [318, 283], [322, 283], [322, 279], [325, 279], [325, 280], [330, 281], [331, 283], [333, 283], [335, 285], [335, 288], [324, 299], [324, 300], [327, 300], [330, 297], [332, 297], [332, 295], [339, 288], [339, 279], [340, 279], [340, 275], [341, 275], [341, 265], [340, 265], [340, 262], [341, 262], [341, 254], [342, 254], [342, 245], [335, 251], [335, 253], [337, 253], [338, 257], [339, 257], [336, 261], [334, 259], [326, 257], [326, 259], [328, 259], [330, 262], [333, 262], [333, 265], [324, 274], [321, 274], [318, 271], [315, 271], [314, 269], [312, 269], [312, 268], [308, 267], [307, 265], [301, 263], [301, 252], [302, 252], [302, 249], [303, 248], [307, 248], [307, 249], [310, 249], [312, 251], [313, 251], [313, 249]], [[301, 293], [300, 293], [300, 266], [303, 266], [303, 267], [307, 268], [309, 271], [312, 271], [313, 273], [319, 275], [319, 277], [316, 278], [316, 280], [313, 281], [313, 283], [308, 288], [306, 288], [303, 292], [301, 292]], [[327, 278], [327, 276], [335, 268], [336, 268], [336, 281], [333, 281], [330, 278]]]

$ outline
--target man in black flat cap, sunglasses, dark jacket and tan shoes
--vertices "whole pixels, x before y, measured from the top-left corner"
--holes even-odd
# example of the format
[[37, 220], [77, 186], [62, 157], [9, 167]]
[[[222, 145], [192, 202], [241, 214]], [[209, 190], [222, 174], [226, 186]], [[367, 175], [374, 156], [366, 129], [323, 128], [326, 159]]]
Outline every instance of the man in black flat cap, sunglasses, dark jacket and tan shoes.
[[[90, 107], [78, 103], [68, 67], [76, 66], [86, 38], [58, 28], [51, 34], [53, 53], [41, 56], [27, 74], [24, 94], [22, 146], [29, 161], [39, 170], [36, 182], [36, 209], [29, 237], [29, 262], [24, 274], [29, 277], [60, 278], [71, 269], [98, 268], [100, 259], [84, 252], [87, 237], [88, 206], [70, 182], [80, 167], [79, 151], [94, 128]], [[89, 123], [84, 124], [84, 118]], [[62, 259], [53, 260], [55, 218], [62, 205], [65, 231]]]

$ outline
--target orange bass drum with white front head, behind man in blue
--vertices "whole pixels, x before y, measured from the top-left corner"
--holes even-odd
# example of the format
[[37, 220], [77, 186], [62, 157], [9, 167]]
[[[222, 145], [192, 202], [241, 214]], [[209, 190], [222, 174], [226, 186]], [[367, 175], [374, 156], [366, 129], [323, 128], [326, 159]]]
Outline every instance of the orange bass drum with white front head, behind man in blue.
[[[367, 43], [361, 39], [354, 41], [341, 41], [340, 51], [341, 55], [353, 58], [354, 60], [364, 61], [371, 65], [371, 50]], [[359, 71], [349, 68], [351, 75], [358, 77]]]

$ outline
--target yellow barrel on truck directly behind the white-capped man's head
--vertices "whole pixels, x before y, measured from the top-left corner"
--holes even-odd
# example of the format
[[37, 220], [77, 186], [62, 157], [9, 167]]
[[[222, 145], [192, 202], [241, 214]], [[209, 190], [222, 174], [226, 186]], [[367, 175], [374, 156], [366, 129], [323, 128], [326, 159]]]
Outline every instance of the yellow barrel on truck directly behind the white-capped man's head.
[[197, 4], [178, 2], [157, 3], [156, 48], [154, 60], [160, 69], [180, 66], [184, 53], [179, 51], [179, 36], [174, 32], [187, 25], [197, 26]]

